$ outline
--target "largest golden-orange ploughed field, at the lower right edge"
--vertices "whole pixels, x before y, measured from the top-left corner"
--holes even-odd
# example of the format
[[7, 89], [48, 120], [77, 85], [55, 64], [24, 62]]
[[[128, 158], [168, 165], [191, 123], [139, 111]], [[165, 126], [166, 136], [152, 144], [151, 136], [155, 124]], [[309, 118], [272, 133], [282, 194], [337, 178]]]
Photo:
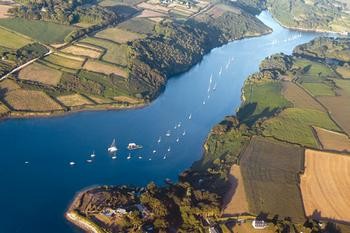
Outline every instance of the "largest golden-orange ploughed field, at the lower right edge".
[[307, 216], [350, 223], [350, 156], [306, 150], [300, 186]]

